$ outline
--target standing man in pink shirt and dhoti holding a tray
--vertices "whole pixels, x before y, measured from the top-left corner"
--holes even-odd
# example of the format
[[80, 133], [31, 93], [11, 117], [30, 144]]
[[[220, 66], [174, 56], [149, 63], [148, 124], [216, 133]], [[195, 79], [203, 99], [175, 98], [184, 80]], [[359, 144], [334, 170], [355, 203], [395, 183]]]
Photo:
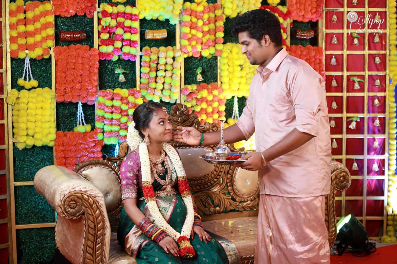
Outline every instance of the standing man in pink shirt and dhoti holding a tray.
[[[278, 18], [256, 9], [233, 27], [242, 53], [259, 65], [243, 114], [224, 131], [227, 143], [249, 139], [256, 152], [238, 165], [258, 170], [260, 203], [255, 263], [330, 263], [324, 222], [331, 185], [330, 125], [323, 78], [282, 48]], [[220, 132], [202, 135], [179, 127], [173, 140], [217, 144]]]

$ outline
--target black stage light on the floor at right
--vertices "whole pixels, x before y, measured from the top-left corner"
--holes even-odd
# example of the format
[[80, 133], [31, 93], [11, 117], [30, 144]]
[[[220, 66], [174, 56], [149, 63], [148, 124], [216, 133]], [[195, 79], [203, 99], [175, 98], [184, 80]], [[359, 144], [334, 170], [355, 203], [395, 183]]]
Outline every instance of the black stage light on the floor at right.
[[353, 254], [366, 256], [376, 251], [375, 243], [368, 241], [364, 226], [353, 215], [347, 215], [337, 223], [337, 252], [342, 255], [348, 248]]

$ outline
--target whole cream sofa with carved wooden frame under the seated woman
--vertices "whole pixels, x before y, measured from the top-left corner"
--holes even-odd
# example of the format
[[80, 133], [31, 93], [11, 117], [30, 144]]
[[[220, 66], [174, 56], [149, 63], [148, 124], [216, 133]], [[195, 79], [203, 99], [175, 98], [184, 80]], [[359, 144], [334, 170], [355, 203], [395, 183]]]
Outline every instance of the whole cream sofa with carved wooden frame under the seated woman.
[[[173, 106], [170, 116], [174, 127], [192, 126], [202, 132], [219, 129], [217, 124], [200, 125], [197, 116], [189, 114], [182, 104]], [[259, 202], [257, 173], [233, 165], [211, 165], [198, 158], [214, 146], [172, 144], [181, 156], [204, 228], [225, 242], [222, 245], [227, 247], [231, 263], [253, 263]], [[56, 245], [71, 263], [136, 263], [118, 245], [115, 233], [122, 208], [119, 167], [128, 152], [123, 142], [117, 157], [86, 161], [75, 171], [47, 166], [35, 175], [37, 192], [58, 213]], [[332, 162], [331, 177], [325, 222], [332, 246], [336, 238], [335, 192], [347, 189], [351, 177], [336, 161]]]

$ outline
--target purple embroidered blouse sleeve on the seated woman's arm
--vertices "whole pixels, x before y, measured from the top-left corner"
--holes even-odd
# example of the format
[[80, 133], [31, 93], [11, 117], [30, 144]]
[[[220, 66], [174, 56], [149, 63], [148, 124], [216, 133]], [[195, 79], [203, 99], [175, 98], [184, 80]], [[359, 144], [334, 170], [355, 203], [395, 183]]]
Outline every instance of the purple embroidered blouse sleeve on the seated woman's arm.
[[138, 198], [138, 176], [141, 170], [139, 155], [128, 154], [120, 167], [121, 195], [123, 199]]

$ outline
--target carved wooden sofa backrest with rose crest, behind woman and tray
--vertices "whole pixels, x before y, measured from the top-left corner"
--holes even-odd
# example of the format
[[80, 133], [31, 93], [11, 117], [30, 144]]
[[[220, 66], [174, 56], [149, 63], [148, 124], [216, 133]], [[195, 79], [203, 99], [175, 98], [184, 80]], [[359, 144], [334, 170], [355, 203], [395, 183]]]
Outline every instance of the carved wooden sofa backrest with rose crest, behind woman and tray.
[[[197, 116], [190, 114], [187, 106], [183, 104], [172, 106], [170, 122], [173, 129], [176, 129], [177, 126], [195, 127], [202, 133], [220, 130], [220, 125], [216, 123], [206, 122], [201, 125]], [[198, 154], [208, 150], [213, 151], [216, 147], [214, 145], [192, 147], [173, 141], [170, 144], [177, 148], [181, 155], [197, 210], [201, 215], [257, 208], [259, 201], [257, 173], [238, 169], [232, 165], [210, 165], [198, 158]], [[233, 144], [229, 147], [231, 150], [238, 151]], [[122, 159], [129, 152], [127, 142], [123, 142], [120, 144], [118, 156], [107, 157], [106, 160], [112, 161], [120, 167]], [[192, 164], [197, 164], [197, 167], [189, 169]], [[197, 171], [207, 171], [208, 173], [200, 174]]]

